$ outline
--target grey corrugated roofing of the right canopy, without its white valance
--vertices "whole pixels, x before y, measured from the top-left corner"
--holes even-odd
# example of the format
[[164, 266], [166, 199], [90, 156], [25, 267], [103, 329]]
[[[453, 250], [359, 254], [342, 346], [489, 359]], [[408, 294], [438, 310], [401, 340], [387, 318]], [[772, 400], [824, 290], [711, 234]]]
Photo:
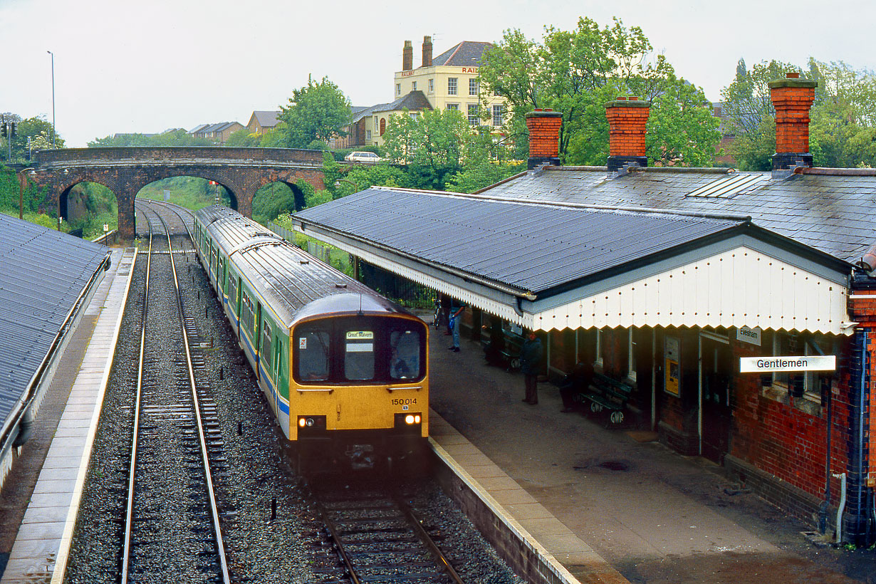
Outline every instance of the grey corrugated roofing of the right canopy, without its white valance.
[[745, 217], [484, 200], [378, 186], [293, 218], [540, 296], [707, 238], [763, 231]]

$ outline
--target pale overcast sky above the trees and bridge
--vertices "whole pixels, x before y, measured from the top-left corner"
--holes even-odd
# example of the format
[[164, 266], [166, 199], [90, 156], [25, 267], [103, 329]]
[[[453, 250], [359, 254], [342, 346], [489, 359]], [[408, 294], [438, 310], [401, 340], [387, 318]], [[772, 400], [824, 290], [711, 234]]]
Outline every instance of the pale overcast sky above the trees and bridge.
[[0, 111], [55, 119], [68, 146], [117, 132], [247, 123], [293, 88], [328, 76], [353, 105], [392, 101], [392, 74], [412, 40], [414, 67], [461, 40], [519, 28], [573, 30], [581, 16], [638, 25], [655, 52], [712, 100], [738, 59], [751, 67], [810, 56], [876, 69], [876, 3], [684, 0], [478, 0], [416, 8], [390, 2], [297, 0], [0, 0]]

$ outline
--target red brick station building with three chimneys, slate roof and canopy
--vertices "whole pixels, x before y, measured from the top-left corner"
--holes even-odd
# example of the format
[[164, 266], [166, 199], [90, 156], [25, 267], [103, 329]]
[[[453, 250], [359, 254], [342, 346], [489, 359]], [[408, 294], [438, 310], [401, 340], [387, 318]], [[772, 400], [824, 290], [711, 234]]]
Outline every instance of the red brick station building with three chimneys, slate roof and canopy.
[[[536, 110], [526, 172], [473, 194], [374, 186], [293, 221], [470, 306], [475, 337], [535, 330], [547, 376], [592, 363], [628, 392], [624, 425], [822, 528], [839, 510], [844, 541], [869, 545], [876, 172], [812, 167], [815, 82], [771, 88], [772, 172], [647, 167], [650, 106], [624, 97], [606, 166], [559, 165], [560, 115]], [[809, 355], [836, 366], [740, 370]]]

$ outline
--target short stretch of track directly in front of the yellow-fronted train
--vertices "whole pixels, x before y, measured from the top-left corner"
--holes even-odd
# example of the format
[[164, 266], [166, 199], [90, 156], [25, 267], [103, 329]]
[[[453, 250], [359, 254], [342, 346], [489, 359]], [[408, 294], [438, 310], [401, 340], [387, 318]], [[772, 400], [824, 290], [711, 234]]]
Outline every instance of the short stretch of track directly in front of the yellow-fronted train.
[[314, 488], [306, 542], [323, 582], [463, 584], [399, 491], [380, 483]]

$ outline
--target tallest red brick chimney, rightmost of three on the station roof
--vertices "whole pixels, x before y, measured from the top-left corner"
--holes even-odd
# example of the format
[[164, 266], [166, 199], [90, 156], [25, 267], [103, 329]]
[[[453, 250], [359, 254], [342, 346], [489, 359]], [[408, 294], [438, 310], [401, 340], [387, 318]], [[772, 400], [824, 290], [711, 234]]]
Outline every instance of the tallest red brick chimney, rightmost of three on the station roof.
[[816, 97], [818, 81], [800, 79], [789, 73], [785, 79], [770, 81], [770, 97], [775, 108], [775, 154], [773, 170], [812, 165], [809, 154], [809, 108]]

